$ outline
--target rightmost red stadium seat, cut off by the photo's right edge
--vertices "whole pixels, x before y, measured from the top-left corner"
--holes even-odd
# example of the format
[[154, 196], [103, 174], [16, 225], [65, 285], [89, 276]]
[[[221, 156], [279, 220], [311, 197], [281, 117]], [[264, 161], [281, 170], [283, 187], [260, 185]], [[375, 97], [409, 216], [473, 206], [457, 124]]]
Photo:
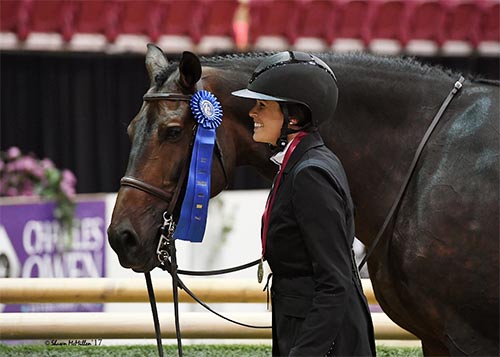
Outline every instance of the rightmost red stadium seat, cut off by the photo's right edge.
[[478, 50], [482, 54], [500, 56], [500, 2], [483, 3]]

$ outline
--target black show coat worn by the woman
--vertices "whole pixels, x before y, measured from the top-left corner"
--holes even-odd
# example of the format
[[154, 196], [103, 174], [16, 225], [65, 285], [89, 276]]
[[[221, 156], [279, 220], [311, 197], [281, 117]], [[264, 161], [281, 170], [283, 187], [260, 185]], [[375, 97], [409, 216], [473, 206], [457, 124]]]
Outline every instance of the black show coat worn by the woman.
[[344, 169], [312, 132], [284, 168], [269, 218], [273, 355], [375, 355], [353, 240]]

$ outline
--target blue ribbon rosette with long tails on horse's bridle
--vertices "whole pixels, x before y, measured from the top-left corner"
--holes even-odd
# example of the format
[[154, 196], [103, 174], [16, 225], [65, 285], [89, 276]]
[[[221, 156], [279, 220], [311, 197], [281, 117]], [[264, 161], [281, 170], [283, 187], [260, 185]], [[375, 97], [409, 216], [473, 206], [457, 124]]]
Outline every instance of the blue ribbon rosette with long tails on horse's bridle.
[[210, 173], [215, 144], [215, 129], [222, 122], [222, 107], [206, 90], [196, 92], [189, 103], [198, 122], [191, 163], [175, 239], [201, 242], [205, 233], [210, 199]]

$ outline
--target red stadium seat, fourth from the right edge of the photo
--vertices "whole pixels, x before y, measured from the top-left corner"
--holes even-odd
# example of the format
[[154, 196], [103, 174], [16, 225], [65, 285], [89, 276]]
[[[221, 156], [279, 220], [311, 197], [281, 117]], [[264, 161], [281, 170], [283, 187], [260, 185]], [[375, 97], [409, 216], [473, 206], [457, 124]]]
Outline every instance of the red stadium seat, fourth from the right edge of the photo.
[[397, 54], [404, 39], [404, 25], [408, 20], [408, 2], [386, 0], [373, 3], [370, 19], [370, 49], [373, 52]]

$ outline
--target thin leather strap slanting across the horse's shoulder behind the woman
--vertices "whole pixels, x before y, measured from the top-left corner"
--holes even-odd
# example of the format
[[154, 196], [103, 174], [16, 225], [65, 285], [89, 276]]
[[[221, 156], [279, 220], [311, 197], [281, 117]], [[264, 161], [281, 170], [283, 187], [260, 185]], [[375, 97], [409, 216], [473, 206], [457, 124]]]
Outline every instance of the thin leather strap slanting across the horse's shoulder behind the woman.
[[462, 88], [462, 85], [465, 81], [465, 78], [463, 76], [460, 76], [460, 78], [455, 82], [453, 85], [453, 89], [451, 90], [450, 94], [446, 97], [444, 100], [443, 104], [441, 104], [441, 107], [437, 111], [436, 115], [434, 116], [434, 119], [432, 119], [431, 124], [427, 128], [427, 131], [425, 132], [422, 141], [420, 142], [420, 145], [417, 148], [417, 151], [415, 152], [415, 156], [413, 157], [413, 161], [410, 165], [410, 169], [408, 170], [408, 173], [406, 174], [406, 177], [403, 181], [403, 185], [401, 186], [401, 189], [396, 196], [396, 199], [394, 200], [394, 204], [392, 205], [389, 213], [387, 214], [387, 217], [385, 218], [384, 224], [378, 231], [375, 240], [373, 241], [372, 245], [370, 246], [370, 249], [368, 249], [368, 252], [364, 256], [363, 260], [358, 266], [358, 269], [361, 270], [363, 266], [366, 264], [370, 256], [372, 255], [373, 251], [377, 247], [378, 243], [380, 242], [380, 239], [382, 238], [382, 235], [384, 234], [385, 230], [387, 229], [387, 226], [389, 225], [389, 222], [391, 221], [392, 217], [396, 213], [396, 210], [398, 209], [401, 199], [403, 198], [403, 195], [406, 192], [406, 189], [408, 188], [408, 185], [410, 183], [410, 180], [413, 176], [413, 173], [415, 172], [415, 168], [417, 167], [418, 160], [420, 159], [420, 156], [422, 155], [422, 151], [424, 150], [425, 145], [429, 141], [429, 138], [436, 128], [437, 124], [439, 123], [439, 120], [443, 116], [444, 111], [446, 108], [448, 108], [448, 105], [450, 104], [451, 100], [455, 96], [455, 94], [458, 93], [458, 91]]

